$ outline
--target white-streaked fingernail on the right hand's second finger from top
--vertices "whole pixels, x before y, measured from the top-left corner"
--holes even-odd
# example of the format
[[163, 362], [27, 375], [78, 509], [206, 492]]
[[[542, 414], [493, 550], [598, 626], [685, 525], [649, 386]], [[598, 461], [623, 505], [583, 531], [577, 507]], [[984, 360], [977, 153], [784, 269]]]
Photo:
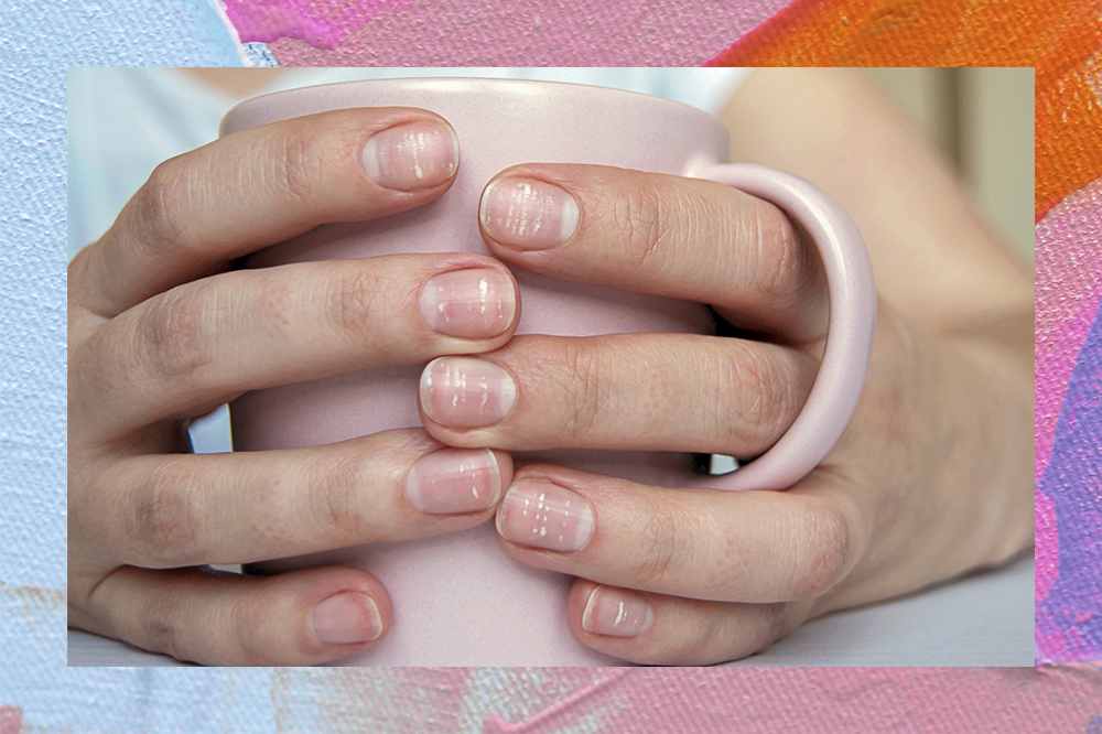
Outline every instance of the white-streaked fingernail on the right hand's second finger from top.
[[517, 384], [509, 373], [482, 359], [440, 357], [421, 373], [421, 407], [444, 425], [493, 425], [516, 401]]

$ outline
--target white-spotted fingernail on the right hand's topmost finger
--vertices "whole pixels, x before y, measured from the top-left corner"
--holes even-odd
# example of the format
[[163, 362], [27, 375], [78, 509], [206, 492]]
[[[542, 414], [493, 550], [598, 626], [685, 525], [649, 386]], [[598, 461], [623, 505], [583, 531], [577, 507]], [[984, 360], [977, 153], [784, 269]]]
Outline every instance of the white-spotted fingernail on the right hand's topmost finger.
[[542, 181], [499, 179], [483, 192], [483, 228], [503, 245], [545, 250], [562, 245], [577, 229], [577, 202]]

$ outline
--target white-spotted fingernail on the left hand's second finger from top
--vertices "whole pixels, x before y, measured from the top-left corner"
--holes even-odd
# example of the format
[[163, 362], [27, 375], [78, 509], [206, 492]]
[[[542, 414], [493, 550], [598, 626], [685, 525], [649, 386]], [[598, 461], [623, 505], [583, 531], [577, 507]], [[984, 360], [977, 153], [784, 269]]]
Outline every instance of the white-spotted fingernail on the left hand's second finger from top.
[[421, 315], [434, 332], [467, 339], [497, 336], [512, 323], [512, 281], [489, 268], [443, 272], [421, 289]]

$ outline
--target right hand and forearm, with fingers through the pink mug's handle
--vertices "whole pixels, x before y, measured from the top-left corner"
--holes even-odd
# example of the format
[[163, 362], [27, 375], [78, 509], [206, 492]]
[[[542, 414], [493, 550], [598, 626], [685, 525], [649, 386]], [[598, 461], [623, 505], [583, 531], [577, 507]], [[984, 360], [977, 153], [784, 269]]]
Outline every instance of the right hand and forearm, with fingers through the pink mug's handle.
[[[744, 657], [813, 616], [1004, 562], [1031, 542], [1030, 282], [969, 218], [951, 179], [862, 88], [800, 72], [780, 80], [784, 93], [776, 79], [752, 77], [731, 117], [758, 126], [749, 131], [757, 138], [735, 130], [742, 144], [781, 151], [753, 162], [803, 174], [850, 208], [884, 273], [868, 378], [841, 440], [787, 492], [668, 489], [529, 465], [497, 511], [514, 558], [580, 576], [566, 602], [571, 628], [618, 658]], [[761, 111], [769, 94], [800, 107]], [[825, 112], [803, 107], [822, 98], [832, 105]], [[769, 115], [785, 116], [782, 140], [769, 137], [781, 127]], [[818, 132], [793, 133], [793, 119], [814, 120]], [[846, 139], [823, 141], [822, 129]], [[824, 158], [825, 171], [800, 170]], [[909, 198], [893, 198], [898, 191]], [[523, 217], [542, 226], [517, 226]], [[478, 358], [441, 359], [428, 369], [484, 377], [466, 384], [489, 386], [488, 404], [499, 410], [453, 412], [444, 382], [433, 380], [421, 411], [434, 438], [745, 458], [801, 409], [825, 335], [825, 281], [812, 248], [771, 205], [707, 181], [528, 164], [484, 192], [482, 228], [510, 263], [703, 301], [741, 337], [532, 335]], [[955, 241], [939, 241], [947, 234]], [[931, 241], [941, 261], [920, 267]], [[495, 401], [494, 390], [515, 397]], [[537, 505], [542, 515], [525, 511]]]

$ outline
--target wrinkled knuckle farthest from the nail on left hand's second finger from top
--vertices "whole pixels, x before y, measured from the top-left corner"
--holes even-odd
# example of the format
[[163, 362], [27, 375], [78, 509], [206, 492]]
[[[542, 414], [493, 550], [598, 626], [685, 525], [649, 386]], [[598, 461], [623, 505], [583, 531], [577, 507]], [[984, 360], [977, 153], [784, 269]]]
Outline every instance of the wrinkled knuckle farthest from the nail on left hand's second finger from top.
[[209, 307], [208, 285], [176, 288], [148, 302], [136, 335], [138, 354], [154, 378], [191, 379], [210, 361], [208, 334], [217, 309]]

